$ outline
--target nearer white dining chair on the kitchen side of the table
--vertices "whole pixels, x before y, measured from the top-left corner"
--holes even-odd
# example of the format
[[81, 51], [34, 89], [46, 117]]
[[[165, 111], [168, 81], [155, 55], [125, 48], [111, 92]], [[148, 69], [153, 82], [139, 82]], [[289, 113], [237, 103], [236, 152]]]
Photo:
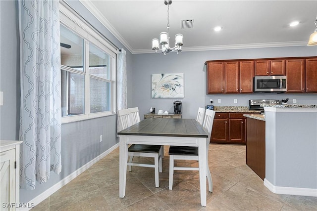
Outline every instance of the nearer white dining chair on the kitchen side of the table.
[[[213, 118], [215, 112], [212, 110], [207, 109], [205, 120], [203, 127], [208, 132], [208, 138], [206, 138], [206, 156], [208, 158], [208, 151], [209, 151], [209, 141], [211, 137], [211, 130], [213, 125]], [[199, 154], [198, 154], [198, 147], [188, 147], [188, 146], [170, 146], [169, 147], [169, 184], [168, 189], [173, 189], [173, 174], [174, 170], [199, 170], [198, 167], [175, 167], [174, 161], [175, 160], [195, 160], [199, 161]], [[208, 166], [208, 159], [207, 159], [207, 178], [208, 178], [208, 185], [209, 191], [212, 192], [212, 179], [211, 179], [211, 172]]]

